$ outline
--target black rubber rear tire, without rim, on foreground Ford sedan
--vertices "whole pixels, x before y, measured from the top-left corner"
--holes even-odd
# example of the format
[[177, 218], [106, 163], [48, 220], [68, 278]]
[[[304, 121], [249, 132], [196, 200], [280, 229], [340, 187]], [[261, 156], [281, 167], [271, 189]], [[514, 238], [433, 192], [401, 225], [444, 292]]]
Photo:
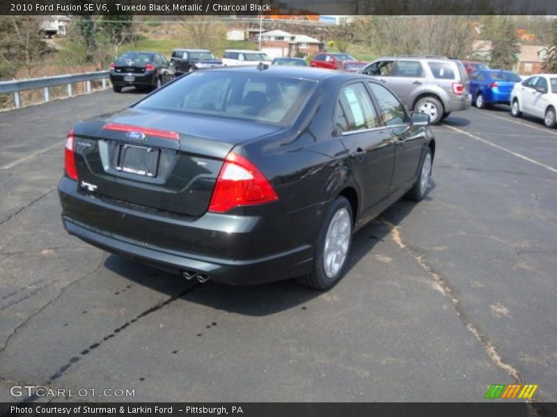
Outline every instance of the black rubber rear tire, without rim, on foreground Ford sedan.
[[[331, 225], [331, 220], [335, 217], [336, 213], [347, 211], [350, 216], [350, 229], [348, 231], [348, 247], [346, 250], [345, 259], [343, 260], [338, 272], [333, 276], [329, 277], [325, 272], [324, 267], [324, 252], [325, 252], [325, 240], [327, 238], [327, 232], [329, 231], [329, 226]], [[343, 214], [343, 213], [341, 213]], [[334, 202], [331, 203], [327, 209], [327, 214], [324, 216], [323, 224], [319, 232], [319, 237], [315, 243], [315, 256], [313, 256], [313, 267], [311, 273], [304, 275], [303, 277], [298, 277], [296, 281], [304, 286], [310, 288], [315, 288], [317, 290], [328, 290], [332, 288], [340, 278], [343, 277], [348, 257], [350, 256], [350, 247], [352, 246], [352, 230], [353, 230], [353, 218], [352, 218], [352, 207], [345, 197], [339, 196]]]

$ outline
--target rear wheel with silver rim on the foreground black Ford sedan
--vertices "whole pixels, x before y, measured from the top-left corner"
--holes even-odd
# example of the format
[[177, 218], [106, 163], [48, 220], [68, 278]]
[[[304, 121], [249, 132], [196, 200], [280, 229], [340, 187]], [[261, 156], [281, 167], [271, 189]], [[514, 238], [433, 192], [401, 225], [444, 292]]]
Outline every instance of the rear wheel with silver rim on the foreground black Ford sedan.
[[352, 244], [352, 207], [345, 197], [337, 197], [327, 214], [315, 243], [310, 274], [299, 277], [299, 284], [328, 290], [343, 276]]

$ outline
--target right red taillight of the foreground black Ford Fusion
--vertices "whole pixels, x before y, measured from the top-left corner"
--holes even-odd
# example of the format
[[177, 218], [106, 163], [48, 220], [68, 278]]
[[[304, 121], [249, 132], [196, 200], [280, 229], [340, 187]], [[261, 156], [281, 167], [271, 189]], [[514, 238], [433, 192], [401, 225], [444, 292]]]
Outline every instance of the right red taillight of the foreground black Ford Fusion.
[[236, 206], [253, 206], [278, 200], [265, 176], [243, 156], [228, 154], [214, 186], [209, 211], [225, 213]]

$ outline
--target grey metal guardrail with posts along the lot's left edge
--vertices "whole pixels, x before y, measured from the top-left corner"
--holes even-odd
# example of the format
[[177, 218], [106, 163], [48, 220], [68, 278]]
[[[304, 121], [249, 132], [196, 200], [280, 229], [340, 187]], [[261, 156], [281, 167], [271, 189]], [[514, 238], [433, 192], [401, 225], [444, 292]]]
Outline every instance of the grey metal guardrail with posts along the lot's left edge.
[[82, 74], [45, 76], [38, 79], [0, 81], [0, 94], [13, 93], [13, 104], [15, 108], [18, 108], [22, 104], [21, 95], [19, 94], [21, 91], [42, 88], [42, 97], [46, 102], [50, 101], [49, 87], [65, 84], [68, 86], [68, 97], [71, 97], [73, 95], [73, 83], [85, 82], [86, 91], [91, 92], [91, 81], [101, 80], [102, 88], [104, 89], [107, 88], [107, 78], [109, 78], [108, 71], [97, 71], [84, 72]]

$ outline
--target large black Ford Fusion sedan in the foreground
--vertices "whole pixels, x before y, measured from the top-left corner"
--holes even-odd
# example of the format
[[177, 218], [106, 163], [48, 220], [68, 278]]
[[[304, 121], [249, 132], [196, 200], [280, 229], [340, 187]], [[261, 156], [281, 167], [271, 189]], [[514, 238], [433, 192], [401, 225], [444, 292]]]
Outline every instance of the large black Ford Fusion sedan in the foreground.
[[186, 279], [330, 288], [354, 231], [427, 192], [427, 124], [360, 74], [192, 72], [70, 130], [63, 224]]

